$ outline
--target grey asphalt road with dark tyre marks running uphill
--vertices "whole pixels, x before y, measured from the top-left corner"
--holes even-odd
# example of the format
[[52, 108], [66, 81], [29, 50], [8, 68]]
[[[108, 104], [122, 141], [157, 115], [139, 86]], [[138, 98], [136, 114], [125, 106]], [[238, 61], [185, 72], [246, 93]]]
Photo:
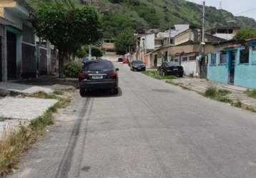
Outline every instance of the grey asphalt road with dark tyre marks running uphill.
[[256, 177], [256, 115], [119, 66], [117, 96], [92, 93], [10, 177]]

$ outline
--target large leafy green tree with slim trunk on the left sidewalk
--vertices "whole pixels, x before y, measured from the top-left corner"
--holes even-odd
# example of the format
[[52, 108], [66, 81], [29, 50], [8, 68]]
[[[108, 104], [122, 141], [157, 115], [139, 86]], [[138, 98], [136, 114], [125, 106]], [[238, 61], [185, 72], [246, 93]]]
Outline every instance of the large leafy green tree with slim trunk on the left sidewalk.
[[49, 40], [59, 50], [59, 77], [63, 76], [64, 58], [82, 45], [96, 42], [99, 37], [99, 16], [94, 8], [67, 6], [66, 3], [36, 6], [34, 28], [36, 34]]

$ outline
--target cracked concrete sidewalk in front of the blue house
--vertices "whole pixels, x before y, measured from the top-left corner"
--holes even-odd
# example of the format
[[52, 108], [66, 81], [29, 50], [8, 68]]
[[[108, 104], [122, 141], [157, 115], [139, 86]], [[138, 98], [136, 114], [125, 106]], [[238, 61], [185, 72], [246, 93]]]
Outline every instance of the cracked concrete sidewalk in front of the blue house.
[[207, 90], [209, 86], [213, 85], [218, 89], [229, 90], [230, 94], [227, 96], [231, 100], [235, 102], [240, 101], [243, 105], [256, 109], [256, 99], [250, 98], [246, 95], [245, 91], [247, 90], [247, 88], [242, 88], [235, 85], [215, 83], [210, 80], [201, 78], [177, 78], [175, 80], [172, 80], [172, 83], [180, 85], [184, 88], [188, 88], [189, 90], [195, 90], [199, 93], [205, 93], [205, 90]]

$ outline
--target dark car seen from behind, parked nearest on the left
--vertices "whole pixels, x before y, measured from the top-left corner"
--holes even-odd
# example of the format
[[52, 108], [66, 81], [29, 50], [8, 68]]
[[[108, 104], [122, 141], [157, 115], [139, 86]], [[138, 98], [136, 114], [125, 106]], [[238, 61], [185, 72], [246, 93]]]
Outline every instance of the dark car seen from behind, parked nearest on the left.
[[87, 61], [87, 65], [79, 73], [80, 95], [87, 95], [91, 90], [110, 90], [112, 94], [118, 93], [118, 68], [114, 68], [111, 61]]

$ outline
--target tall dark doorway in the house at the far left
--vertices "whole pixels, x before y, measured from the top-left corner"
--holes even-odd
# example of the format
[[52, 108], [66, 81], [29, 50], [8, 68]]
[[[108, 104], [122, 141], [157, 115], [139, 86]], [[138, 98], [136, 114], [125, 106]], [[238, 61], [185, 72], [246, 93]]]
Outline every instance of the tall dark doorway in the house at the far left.
[[16, 34], [7, 31], [7, 78], [16, 79]]

